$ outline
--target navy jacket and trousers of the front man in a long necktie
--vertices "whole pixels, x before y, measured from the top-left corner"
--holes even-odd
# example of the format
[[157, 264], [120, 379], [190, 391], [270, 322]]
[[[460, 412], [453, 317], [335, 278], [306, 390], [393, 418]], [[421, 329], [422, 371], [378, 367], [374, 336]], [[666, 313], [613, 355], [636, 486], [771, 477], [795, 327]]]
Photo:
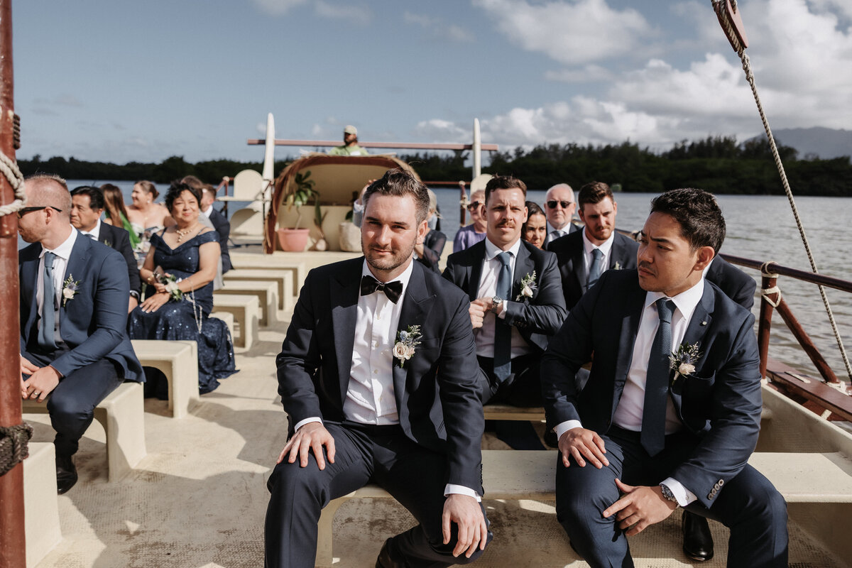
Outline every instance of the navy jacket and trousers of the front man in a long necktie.
[[[625, 387], [646, 291], [635, 270], [602, 274], [550, 341], [542, 361], [550, 427], [579, 420], [604, 438], [610, 466], [557, 466], [556, 505], [573, 545], [590, 565], [632, 565], [626, 537], [602, 511], [619, 498], [614, 479], [657, 485], [671, 477], [698, 497], [688, 509], [731, 528], [728, 566], [786, 566], [786, 505], [747, 460], [762, 407], [754, 317], [713, 284], [688, 324], [684, 343], [703, 353], [693, 374], [670, 389], [682, 431], [653, 458], [638, 433], [613, 425]], [[577, 392], [574, 374], [591, 359]], [[573, 459], [573, 458], [572, 458]], [[589, 520], [593, 519], [593, 520]], [[594, 520], [597, 519], [597, 520]]]

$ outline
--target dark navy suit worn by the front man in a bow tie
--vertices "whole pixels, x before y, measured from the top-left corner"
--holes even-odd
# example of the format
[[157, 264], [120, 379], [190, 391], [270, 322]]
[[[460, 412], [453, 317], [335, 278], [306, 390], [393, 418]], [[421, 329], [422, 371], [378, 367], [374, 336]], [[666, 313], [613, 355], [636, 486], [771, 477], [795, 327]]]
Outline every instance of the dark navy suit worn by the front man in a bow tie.
[[320, 509], [368, 482], [382, 485], [420, 523], [394, 537], [394, 548], [409, 562], [440, 566], [467, 560], [452, 557], [455, 537], [448, 545], [442, 543], [440, 517], [445, 484], [482, 494], [485, 421], [475, 380], [468, 299], [440, 275], [413, 262], [400, 298], [397, 329], [420, 325], [422, 338], [404, 368], [394, 359], [399, 426], [348, 422], [343, 403], [363, 262], [360, 257], [308, 273], [276, 359], [279, 394], [291, 428], [309, 417], [322, 418], [335, 439], [337, 456], [323, 471], [313, 454], [307, 468], [286, 460], [274, 468], [266, 522], [270, 567], [313, 566]]

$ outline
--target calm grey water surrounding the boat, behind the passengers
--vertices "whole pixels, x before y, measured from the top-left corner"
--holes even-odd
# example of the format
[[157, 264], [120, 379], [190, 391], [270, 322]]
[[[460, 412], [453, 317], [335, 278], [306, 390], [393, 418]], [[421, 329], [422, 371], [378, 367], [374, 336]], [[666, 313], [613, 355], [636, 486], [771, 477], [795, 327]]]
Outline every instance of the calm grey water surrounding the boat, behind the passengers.
[[[91, 183], [91, 181], [69, 181], [70, 187]], [[105, 183], [97, 182], [96, 185]], [[121, 187], [126, 202], [130, 203], [131, 181], [113, 181]], [[168, 185], [159, 184], [160, 197]], [[452, 241], [458, 230], [458, 189], [435, 188], [438, 205], [444, 215], [441, 229]], [[652, 193], [619, 193], [617, 226], [621, 229], [637, 230], [642, 228], [648, 216], [648, 207]], [[544, 191], [531, 191], [527, 196], [538, 204], [544, 202]], [[746, 256], [760, 261], [777, 261], [779, 264], [810, 270], [802, 240], [798, 235], [790, 204], [786, 197], [779, 196], [719, 196], [719, 204], [728, 228], [728, 236], [722, 246], [722, 252]], [[820, 273], [830, 276], [852, 279], [849, 270], [847, 251], [852, 250], [852, 198], [809, 198], [796, 199], [799, 216], [814, 252], [816, 266]], [[232, 204], [231, 210], [239, 209]], [[756, 270], [746, 269], [760, 285], [760, 274]], [[820, 293], [813, 284], [797, 282], [792, 278], [779, 278], [779, 286], [787, 303], [795, 313], [805, 330], [814, 339], [817, 347], [832, 364], [840, 378], [848, 378], [843, 367], [837, 343], [828, 323]], [[838, 324], [843, 344], [852, 353], [852, 294], [838, 290], [826, 290], [831, 303], [835, 321]], [[759, 299], [755, 302], [754, 313], [757, 316]], [[815, 374], [807, 357], [801, 352], [796, 340], [786, 329], [781, 318], [773, 318], [770, 356], [787, 364], [797, 366], [804, 372]]]

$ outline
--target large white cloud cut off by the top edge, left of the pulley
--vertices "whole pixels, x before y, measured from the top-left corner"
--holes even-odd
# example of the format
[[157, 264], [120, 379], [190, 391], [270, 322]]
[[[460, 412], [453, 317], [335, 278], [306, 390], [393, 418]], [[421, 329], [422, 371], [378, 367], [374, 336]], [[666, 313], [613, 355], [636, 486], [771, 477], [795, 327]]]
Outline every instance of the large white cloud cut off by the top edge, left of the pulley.
[[500, 32], [527, 51], [565, 65], [636, 55], [657, 32], [635, 9], [611, 9], [605, 0], [530, 3], [473, 0]]

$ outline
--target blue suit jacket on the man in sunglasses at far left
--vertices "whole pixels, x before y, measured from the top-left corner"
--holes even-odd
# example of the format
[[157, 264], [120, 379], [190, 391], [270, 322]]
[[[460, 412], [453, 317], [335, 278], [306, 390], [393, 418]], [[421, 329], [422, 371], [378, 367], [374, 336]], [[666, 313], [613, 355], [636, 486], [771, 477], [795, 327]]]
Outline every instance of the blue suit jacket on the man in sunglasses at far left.
[[[42, 245], [34, 243], [18, 252], [20, 278], [20, 351], [39, 352], [38, 255]], [[130, 295], [127, 267], [115, 250], [78, 235], [68, 259], [66, 273], [78, 281], [77, 293], [62, 306], [60, 334], [70, 350], [50, 364], [63, 376], [87, 364], [107, 358], [119, 364], [124, 378], [142, 382], [139, 359], [127, 336], [127, 297]]]

